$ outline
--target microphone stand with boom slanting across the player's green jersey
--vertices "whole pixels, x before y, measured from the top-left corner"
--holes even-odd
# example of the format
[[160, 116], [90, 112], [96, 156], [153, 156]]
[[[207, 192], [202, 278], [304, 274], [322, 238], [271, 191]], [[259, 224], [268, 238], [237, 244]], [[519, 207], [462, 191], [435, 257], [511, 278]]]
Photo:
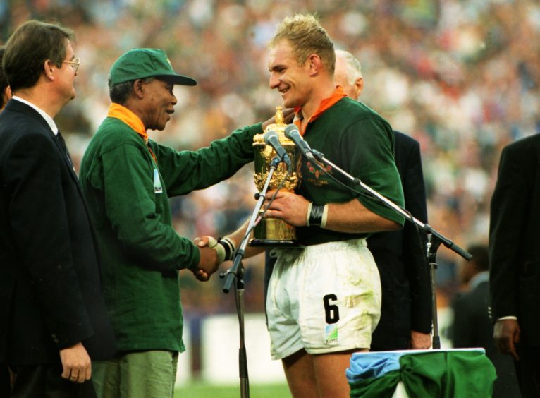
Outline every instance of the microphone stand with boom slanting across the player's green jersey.
[[427, 243], [426, 243], [426, 257], [429, 261], [429, 269], [430, 269], [430, 277], [431, 277], [431, 311], [433, 315], [433, 340], [432, 340], [432, 346], [434, 349], [440, 349], [441, 348], [441, 339], [438, 335], [438, 320], [437, 320], [437, 298], [436, 298], [436, 286], [435, 286], [435, 270], [437, 269], [437, 263], [436, 263], [436, 254], [438, 247], [443, 243], [444, 246], [449, 248], [450, 250], [454, 251], [455, 253], [458, 253], [462, 258], [465, 258], [465, 260], [470, 260], [472, 258], [472, 255], [470, 253], [467, 253], [467, 251], [460, 248], [458, 245], [456, 245], [453, 241], [450, 241], [450, 239], [446, 238], [442, 234], [440, 234], [438, 231], [434, 230], [429, 224], [424, 224], [423, 222], [419, 221], [419, 219], [416, 219], [413, 217], [409, 212], [406, 210], [403, 210], [402, 207], [396, 205], [391, 200], [385, 198], [383, 195], [381, 195], [379, 192], [375, 191], [373, 188], [367, 186], [365, 183], [360, 181], [360, 179], [357, 179], [356, 177], [351, 176], [343, 169], [340, 169], [340, 167], [336, 166], [336, 164], [333, 164], [329, 159], [326, 159], [324, 157], [324, 154], [319, 152], [318, 150], [312, 149], [312, 155], [315, 157], [315, 159], [319, 160], [319, 162], [323, 162], [326, 164], [331, 165], [333, 169], [336, 169], [339, 171], [339, 173], [348, 179], [352, 181], [352, 183], [355, 183], [355, 185], [359, 185], [362, 188], [364, 188], [365, 191], [371, 193], [374, 197], [381, 200], [383, 205], [386, 205], [386, 207], [391, 208], [398, 214], [402, 215], [407, 219], [408, 221], [412, 222], [413, 224], [416, 224], [416, 226], [419, 229], [422, 229], [427, 234]]

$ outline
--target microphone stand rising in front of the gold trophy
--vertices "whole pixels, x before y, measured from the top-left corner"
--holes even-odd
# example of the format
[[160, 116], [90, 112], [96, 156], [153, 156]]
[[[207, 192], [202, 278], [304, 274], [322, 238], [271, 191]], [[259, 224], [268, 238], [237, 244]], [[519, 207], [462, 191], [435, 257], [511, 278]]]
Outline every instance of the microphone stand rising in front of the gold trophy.
[[247, 376], [247, 351], [245, 349], [245, 339], [244, 339], [244, 268], [242, 264], [242, 259], [245, 254], [245, 247], [247, 246], [247, 240], [251, 234], [252, 229], [257, 224], [257, 216], [259, 215], [259, 210], [261, 210], [264, 199], [266, 198], [266, 192], [270, 185], [274, 171], [276, 167], [281, 162], [281, 159], [274, 157], [270, 163], [270, 170], [266, 181], [264, 182], [264, 188], [262, 192], [258, 193], [257, 196], [257, 205], [253, 210], [249, 224], [247, 224], [247, 229], [245, 235], [240, 242], [240, 246], [235, 251], [235, 256], [233, 260], [233, 266], [229, 268], [226, 272], [219, 275], [220, 278], [225, 278], [225, 283], [223, 284], [223, 292], [228, 293], [231, 291], [231, 286], [233, 285], [233, 280], [236, 279], [236, 310], [238, 313], [238, 322], [240, 326], [240, 348], [238, 349], [238, 373], [240, 375], [240, 397], [249, 398], [250, 397], [250, 382]]

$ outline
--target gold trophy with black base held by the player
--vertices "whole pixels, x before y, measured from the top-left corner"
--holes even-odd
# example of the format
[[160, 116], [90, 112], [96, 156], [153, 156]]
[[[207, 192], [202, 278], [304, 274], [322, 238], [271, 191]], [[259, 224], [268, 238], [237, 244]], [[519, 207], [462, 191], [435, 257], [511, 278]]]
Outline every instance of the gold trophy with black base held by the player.
[[[292, 169], [288, 174], [288, 167], [284, 162], [278, 163], [276, 171], [271, 177], [269, 190], [277, 189], [293, 192], [300, 183], [300, 151], [296, 150], [296, 145], [285, 136], [287, 125], [283, 123], [283, 113], [281, 107], [276, 107], [276, 123], [266, 127], [264, 133], [275, 131], [278, 134], [279, 143], [286, 150], [290, 157]], [[264, 134], [257, 134], [253, 137], [253, 147], [255, 151], [255, 185], [259, 192], [264, 189], [264, 184], [269, 176], [271, 162], [276, 158], [276, 150], [271, 145], [264, 142]], [[285, 181], [283, 181], [285, 180]], [[264, 212], [264, 208], [259, 210], [259, 216]], [[265, 247], [298, 247], [296, 239], [296, 228], [284, 222], [282, 219], [262, 218], [254, 227], [253, 239], [250, 246]]]

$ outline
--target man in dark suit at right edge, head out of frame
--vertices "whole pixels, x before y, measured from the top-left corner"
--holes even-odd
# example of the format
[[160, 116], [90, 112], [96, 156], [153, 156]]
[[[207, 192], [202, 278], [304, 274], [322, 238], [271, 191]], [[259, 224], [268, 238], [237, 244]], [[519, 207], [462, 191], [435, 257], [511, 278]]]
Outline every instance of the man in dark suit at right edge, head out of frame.
[[493, 338], [515, 359], [524, 397], [540, 397], [540, 135], [503, 149], [491, 198]]

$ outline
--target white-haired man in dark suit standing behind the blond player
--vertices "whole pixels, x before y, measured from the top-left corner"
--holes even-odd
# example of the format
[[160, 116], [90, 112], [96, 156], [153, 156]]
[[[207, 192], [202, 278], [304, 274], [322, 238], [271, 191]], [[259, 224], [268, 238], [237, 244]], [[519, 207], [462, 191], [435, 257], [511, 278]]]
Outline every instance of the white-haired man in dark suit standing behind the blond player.
[[[364, 88], [360, 61], [336, 50], [336, 85], [358, 100]], [[417, 140], [394, 131], [394, 159], [405, 208], [427, 223], [426, 189]], [[379, 268], [382, 287], [381, 320], [372, 334], [371, 351], [429, 349], [431, 346], [431, 282], [429, 266], [415, 224], [405, 222], [399, 231], [372, 234], [367, 247]]]

